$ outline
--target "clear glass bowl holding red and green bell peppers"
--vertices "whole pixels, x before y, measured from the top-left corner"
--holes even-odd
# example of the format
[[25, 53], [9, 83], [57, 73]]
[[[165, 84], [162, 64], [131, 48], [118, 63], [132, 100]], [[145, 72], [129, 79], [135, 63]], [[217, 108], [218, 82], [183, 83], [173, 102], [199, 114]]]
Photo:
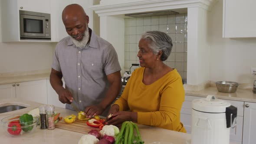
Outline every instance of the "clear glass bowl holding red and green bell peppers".
[[[21, 114], [23, 115], [23, 114]], [[26, 123], [20, 123], [19, 116], [21, 115], [10, 115], [1, 120], [3, 129], [11, 136], [20, 136], [24, 134], [33, 133], [36, 130], [39, 116], [32, 115], [33, 121], [28, 121]], [[15, 121], [15, 122], [13, 122]]]

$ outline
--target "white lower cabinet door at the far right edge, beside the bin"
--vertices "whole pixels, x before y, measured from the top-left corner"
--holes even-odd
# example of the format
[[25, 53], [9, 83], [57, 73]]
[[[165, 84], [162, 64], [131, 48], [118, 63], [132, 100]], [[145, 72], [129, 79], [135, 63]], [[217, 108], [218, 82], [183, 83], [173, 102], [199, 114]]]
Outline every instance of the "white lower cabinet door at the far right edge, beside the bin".
[[256, 103], [244, 103], [243, 144], [256, 142]]

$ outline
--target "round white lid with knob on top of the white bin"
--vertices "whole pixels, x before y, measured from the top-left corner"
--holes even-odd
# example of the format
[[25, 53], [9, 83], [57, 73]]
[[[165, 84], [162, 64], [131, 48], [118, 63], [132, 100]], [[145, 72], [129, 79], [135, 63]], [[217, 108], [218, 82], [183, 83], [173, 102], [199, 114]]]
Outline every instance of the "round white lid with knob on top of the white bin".
[[192, 101], [192, 108], [196, 111], [207, 113], [223, 113], [226, 107], [229, 107], [228, 101], [217, 99], [214, 95], [208, 95], [206, 98], [195, 99]]

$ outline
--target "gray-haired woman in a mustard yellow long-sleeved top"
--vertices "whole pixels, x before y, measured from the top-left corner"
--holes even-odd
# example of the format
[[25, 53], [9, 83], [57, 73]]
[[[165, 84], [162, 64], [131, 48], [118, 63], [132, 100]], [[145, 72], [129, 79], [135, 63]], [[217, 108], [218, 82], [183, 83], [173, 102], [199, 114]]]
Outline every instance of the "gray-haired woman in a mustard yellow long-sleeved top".
[[163, 62], [172, 46], [171, 37], [163, 32], [148, 31], [141, 36], [137, 55], [141, 67], [132, 72], [121, 97], [109, 110], [115, 117], [108, 124], [134, 121], [186, 132], [180, 121], [185, 97], [181, 75]]

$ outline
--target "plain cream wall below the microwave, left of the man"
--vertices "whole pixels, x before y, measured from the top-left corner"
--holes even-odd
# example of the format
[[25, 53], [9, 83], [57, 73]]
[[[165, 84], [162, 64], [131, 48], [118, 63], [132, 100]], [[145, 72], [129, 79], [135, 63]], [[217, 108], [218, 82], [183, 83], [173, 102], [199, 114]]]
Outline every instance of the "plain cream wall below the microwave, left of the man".
[[[0, 39], [2, 36], [4, 34], [0, 35]], [[0, 73], [51, 69], [55, 45], [55, 43], [28, 42], [1, 43], [0, 40]]]

